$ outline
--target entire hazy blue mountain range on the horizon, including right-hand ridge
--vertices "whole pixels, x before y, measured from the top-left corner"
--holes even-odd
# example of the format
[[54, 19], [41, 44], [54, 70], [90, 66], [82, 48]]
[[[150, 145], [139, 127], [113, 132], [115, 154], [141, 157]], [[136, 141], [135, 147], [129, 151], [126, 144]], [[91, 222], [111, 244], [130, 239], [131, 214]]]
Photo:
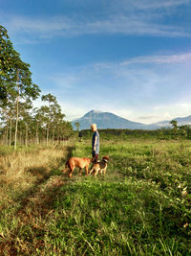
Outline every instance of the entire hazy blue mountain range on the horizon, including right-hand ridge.
[[[187, 117], [178, 117], [174, 120], [177, 120], [179, 126], [190, 125], [191, 115]], [[91, 110], [81, 118], [72, 121], [72, 125], [74, 129], [76, 129], [75, 123], [79, 123], [79, 129], [88, 129], [93, 123], [96, 123], [97, 128], [157, 129], [162, 127], [170, 127], [170, 121], [171, 120], [166, 120], [151, 125], [145, 125], [119, 117], [110, 112]]]

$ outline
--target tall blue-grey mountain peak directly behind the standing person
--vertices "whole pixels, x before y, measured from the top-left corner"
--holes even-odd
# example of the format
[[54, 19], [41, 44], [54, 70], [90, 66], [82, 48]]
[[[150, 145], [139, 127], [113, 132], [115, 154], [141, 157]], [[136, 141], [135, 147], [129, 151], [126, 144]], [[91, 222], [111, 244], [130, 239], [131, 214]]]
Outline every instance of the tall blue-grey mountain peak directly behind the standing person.
[[97, 128], [147, 129], [147, 126], [144, 124], [132, 122], [109, 112], [101, 112], [97, 110], [91, 110], [83, 117], [75, 119], [72, 122], [74, 129], [76, 129], [74, 125], [75, 123], [79, 123], [80, 129], [88, 129], [93, 123], [96, 123]]

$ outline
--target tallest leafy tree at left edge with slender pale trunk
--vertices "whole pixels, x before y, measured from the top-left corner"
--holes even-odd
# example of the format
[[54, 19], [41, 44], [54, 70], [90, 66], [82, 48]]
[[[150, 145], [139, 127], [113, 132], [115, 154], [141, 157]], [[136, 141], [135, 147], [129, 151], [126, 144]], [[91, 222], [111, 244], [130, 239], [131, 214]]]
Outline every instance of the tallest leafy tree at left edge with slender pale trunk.
[[7, 30], [2, 26], [0, 26], [0, 53], [0, 103], [7, 105], [8, 99], [14, 99], [16, 109], [14, 149], [16, 149], [19, 102], [35, 100], [39, 96], [40, 89], [32, 83], [30, 64], [21, 60], [19, 53], [13, 49]]

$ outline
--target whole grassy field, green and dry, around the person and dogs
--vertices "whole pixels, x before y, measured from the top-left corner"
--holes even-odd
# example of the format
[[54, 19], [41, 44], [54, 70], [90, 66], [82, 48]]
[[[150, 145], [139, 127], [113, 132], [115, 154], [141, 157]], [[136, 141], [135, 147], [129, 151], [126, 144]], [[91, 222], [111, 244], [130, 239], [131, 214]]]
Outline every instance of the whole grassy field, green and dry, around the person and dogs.
[[105, 176], [63, 175], [90, 145], [3, 151], [0, 254], [191, 255], [191, 142], [101, 141]]

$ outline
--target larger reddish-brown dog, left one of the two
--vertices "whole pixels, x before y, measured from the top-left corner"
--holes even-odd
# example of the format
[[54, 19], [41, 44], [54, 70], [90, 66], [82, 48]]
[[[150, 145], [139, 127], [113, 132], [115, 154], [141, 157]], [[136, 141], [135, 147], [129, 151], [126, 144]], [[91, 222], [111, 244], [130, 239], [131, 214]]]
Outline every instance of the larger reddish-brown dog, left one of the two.
[[92, 158], [88, 157], [71, 157], [66, 162], [65, 169], [63, 170], [63, 173], [66, 173], [67, 168], [70, 169], [69, 177], [72, 177], [74, 168], [79, 168], [79, 173], [82, 175], [82, 169], [85, 167], [86, 169], [86, 175], [88, 175], [88, 168], [90, 163], [92, 162]]

